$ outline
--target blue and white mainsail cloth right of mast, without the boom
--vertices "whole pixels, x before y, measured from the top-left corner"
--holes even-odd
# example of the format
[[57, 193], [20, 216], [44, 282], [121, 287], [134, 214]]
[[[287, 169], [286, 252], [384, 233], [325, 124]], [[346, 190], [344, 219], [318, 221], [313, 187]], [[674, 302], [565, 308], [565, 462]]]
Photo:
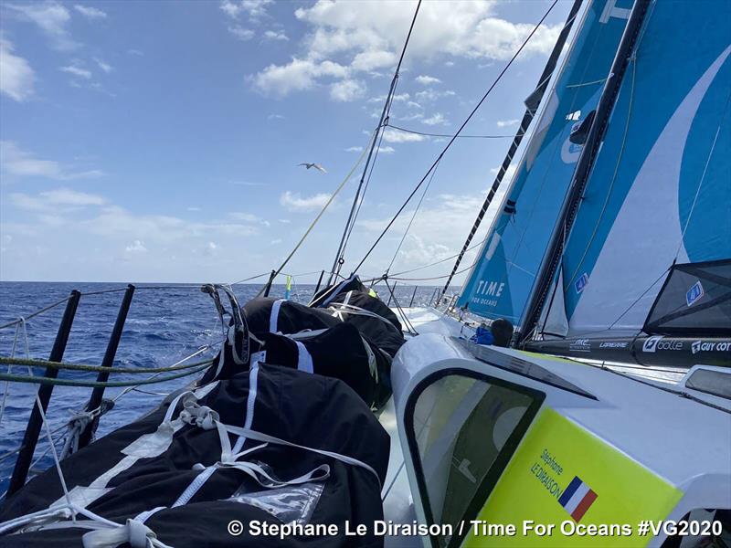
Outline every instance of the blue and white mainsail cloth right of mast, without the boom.
[[564, 334], [637, 333], [675, 262], [731, 258], [729, 21], [649, 6], [564, 249]]

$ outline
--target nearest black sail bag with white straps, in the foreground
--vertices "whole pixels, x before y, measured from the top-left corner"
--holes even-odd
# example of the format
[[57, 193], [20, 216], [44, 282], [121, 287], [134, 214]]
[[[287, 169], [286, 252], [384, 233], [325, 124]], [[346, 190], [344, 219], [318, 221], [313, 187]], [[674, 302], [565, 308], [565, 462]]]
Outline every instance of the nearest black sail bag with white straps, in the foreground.
[[[169, 401], [63, 460], [61, 468], [72, 500], [112, 522], [143, 522], [160, 542], [176, 548], [382, 544], [372, 534], [372, 524], [383, 519], [380, 493], [387, 472], [389, 437], [351, 388], [323, 375], [253, 364], [250, 371], [206, 385], [197, 395], [198, 408], [209, 407], [217, 413], [219, 423], [249, 428], [240, 447], [238, 435], [227, 435], [233, 451], [252, 449], [234, 463], [248, 464], [235, 468], [229, 459], [229, 466], [217, 466], [226, 460], [217, 427], [205, 429], [181, 422], [182, 412], [189, 406], [181, 398], [168, 421], [164, 418]], [[256, 433], [303, 448], [262, 443], [262, 437], [251, 438]], [[153, 443], [151, 437], [155, 436], [158, 439]], [[161, 442], [165, 437], [167, 445]], [[247, 467], [260, 471], [247, 473], [242, 469]], [[292, 479], [300, 482], [288, 484]], [[276, 484], [279, 487], [275, 488], [274, 480], [281, 482]], [[88, 489], [90, 486], [96, 489]], [[0, 521], [64, 501], [58, 474], [51, 468], [5, 501]], [[0, 537], [0, 545], [80, 546], [90, 525], [99, 522], [81, 515], [77, 519], [77, 526], [69, 526], [70, 520], [65, 520], [66, 526], [51, 521], [36, 531], [26, 527], [26, 531]], [[228, 532], [232, 521], [243, 524], [243, 532], [237, 536]], [[346, 521], [352, 526], [367, 524], [368, 534], [345, 537]], [[253, 522], [335, 524], [338, 532], [283, 539], [254, 536], [249, 529]]]

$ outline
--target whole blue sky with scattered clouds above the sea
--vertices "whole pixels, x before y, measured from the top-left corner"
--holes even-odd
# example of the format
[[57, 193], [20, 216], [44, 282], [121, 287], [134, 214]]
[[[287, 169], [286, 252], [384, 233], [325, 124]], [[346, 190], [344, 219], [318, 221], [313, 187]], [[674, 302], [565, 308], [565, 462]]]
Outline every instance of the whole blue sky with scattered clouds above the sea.
[[[548, 5], [425, 2], [391, 122], [455, 130]], [[278, 266], [367, 144], [415, 6], [4, 2], [0, 279], [233, 281]], [[559, 2], [465, 132], [515, 131], [569, 8]], [[345, 270], [444, 144], [388, 130]], [[392, 272], [459, 251], [509, 144], [450, 149]], [[330, 266], [356, 184], [285, 271]], [[363, 274], [387, 267], [413, 205]]]

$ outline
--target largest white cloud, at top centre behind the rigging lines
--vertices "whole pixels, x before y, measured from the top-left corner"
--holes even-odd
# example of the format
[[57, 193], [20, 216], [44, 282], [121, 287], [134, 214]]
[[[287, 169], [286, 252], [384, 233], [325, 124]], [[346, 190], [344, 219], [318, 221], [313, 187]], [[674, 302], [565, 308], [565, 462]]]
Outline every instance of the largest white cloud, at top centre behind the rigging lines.
[[[238, 16], [242, 11], [231, 2], [225, 5], [225, 11], [231, 16]], [[409, 62], [447, 56], [512, 57], [534, 25], [497, 18], [493, 16], [494, 5], [493, 1], [469, 0], [434, 1], [422, 5], [418, 28], [409, 42]], [[323, 79], [353, 80], [359, 73], [373, 75], [378, 69], [390, 68], [396, 64], [396, 52], [403, 45], [413, 9], [410, 2], [333, 0], [318, 0], [310, 7], [299, 7], [294, 15], [309, 25], [299, 47], [300, 53], [289, 63], [270, 65], [253, 75], [255, 88], [283, 96], [313, 89], [316, 84], [323, 83]], [[524, 51], [526, 54], [547, 53], [559, 31], [560, 26], [541, 27]], [[323, 62], [337, 64], [342, 68], [342, 74], [318, 70]], [[288, 83], [290, 79], [292, 81]], [[422, 85], [440, 82], [428, 75], [418, 76], [416, 80]], [[331, 93], [334, 100], [342, 100], [340, 97], [339, 93]]]

